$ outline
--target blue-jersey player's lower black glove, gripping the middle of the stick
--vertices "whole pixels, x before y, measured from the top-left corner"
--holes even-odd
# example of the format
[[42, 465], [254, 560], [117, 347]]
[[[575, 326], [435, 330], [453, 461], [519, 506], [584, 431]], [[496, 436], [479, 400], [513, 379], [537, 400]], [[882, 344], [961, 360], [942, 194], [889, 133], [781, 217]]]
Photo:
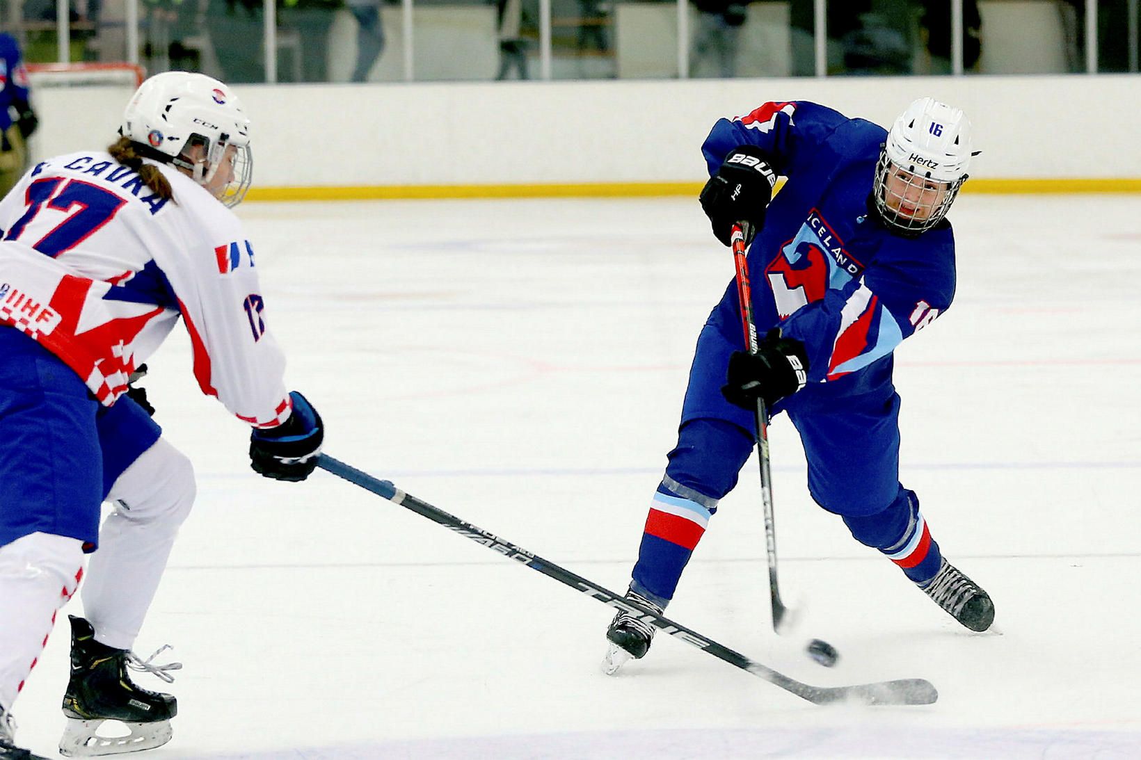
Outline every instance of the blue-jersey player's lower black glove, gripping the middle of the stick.
[[734, 351], [721, 395], [742, 409], [755, 410], [756, 398], [764, 405], [791, 396], [808, 381], [808, 353], [804, 343], [794, 338], [782, 338], [779, 330], [770, 330], [756, 347], [756, 354]]

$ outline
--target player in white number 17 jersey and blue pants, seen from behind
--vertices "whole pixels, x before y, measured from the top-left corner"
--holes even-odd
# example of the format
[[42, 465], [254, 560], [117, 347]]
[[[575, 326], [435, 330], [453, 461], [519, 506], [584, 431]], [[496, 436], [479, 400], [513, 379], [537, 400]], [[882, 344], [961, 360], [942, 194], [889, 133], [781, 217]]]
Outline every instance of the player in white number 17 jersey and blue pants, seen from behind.
[[[0, 759], [35, 757], [8, 711], [84, 574], [60, 752], [170, 741], [175, 697], [126, 668], [194, 474], [131, 382], [179, 318], [202, 391], [251, 426], [256, 471], [304, 480], [323, 438], [314, 407], [286, 393], [253, 246], [229, 210], [252, 169], [238, 99], [202, 74], [159, 74], [120, 135], [38, 163], [0, 201]], [[108, 719], [131, 735], [99, 735]]]

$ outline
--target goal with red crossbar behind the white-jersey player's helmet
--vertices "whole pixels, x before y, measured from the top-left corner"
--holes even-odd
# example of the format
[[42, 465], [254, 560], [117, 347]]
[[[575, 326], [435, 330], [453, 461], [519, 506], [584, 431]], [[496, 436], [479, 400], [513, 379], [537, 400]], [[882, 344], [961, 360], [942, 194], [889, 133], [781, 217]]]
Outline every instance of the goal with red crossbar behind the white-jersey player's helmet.
[[114, 143], [123, 108], [146, 76], [130, 63], [27, 64], [27, 74], [40, 118], [29, 140], [33, 162]]

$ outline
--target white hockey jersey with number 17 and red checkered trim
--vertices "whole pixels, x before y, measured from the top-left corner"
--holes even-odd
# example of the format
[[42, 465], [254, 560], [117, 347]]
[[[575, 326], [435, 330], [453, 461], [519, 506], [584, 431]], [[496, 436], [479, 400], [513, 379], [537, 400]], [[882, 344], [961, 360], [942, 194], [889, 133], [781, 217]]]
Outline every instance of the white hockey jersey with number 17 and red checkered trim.
[[[156, 164], [157, 165], [157, 164]], [[291, 412], [253, 248], [229, 209], [160, 165], [162, 201], [100, 151], [39, 163], [0, 201], [0, 324], [64, 361], [111, 405], [179, 316], [202, 391], [254, 427]]]

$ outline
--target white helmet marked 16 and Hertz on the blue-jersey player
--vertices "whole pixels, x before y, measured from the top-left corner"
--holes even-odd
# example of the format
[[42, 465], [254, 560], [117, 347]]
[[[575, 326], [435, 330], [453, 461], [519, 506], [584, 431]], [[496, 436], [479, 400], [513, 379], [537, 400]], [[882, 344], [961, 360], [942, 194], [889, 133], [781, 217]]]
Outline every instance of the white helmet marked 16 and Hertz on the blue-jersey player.
[[939, 224], [966, 180], [971, 122], [933, 98], [915, 100], [896, 120], [880, 152], [873, 196], [883, 220], [905, 233]]

